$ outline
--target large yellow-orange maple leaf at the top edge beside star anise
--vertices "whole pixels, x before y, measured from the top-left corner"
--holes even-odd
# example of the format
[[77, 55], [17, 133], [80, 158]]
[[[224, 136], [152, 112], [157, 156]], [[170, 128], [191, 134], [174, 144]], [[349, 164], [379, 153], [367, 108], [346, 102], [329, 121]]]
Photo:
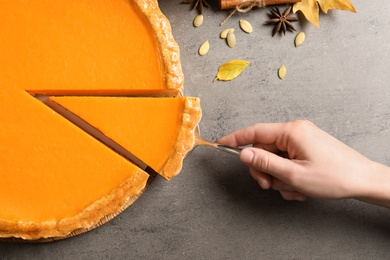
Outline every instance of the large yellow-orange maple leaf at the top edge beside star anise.
[[356, 13], [355, 7], [349, 0], [302, 0], [294, 4], [293, 12], [301, 11], [306, 19], [320, 28], [319, 12], [321, 7], [324, 13], [330, 9], [345, 10]]

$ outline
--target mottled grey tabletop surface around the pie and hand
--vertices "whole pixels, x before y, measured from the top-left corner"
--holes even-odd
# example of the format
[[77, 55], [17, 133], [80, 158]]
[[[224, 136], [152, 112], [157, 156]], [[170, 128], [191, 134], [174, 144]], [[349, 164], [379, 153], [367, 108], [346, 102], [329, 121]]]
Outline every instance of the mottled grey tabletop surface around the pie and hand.
[[[181, 48], [185, 94], [201, 98], [202, 135], [216, 139], [256, 122], [309, 119], [390, 165], [390, 2], [352, 0], [357, 13], [330, 11], [321, 29], [271, 37], [267, 11], [233, 16], [234, 49], [219, 39], [228, 12], [210, 0], [204, 24], [181, 0], [162, 1]], [[254, 32], [238, 28], [250, 21]], [[198, 46], [209, 40], [205, 57]], [[213, 82], [231, 59], [251, 65]], [[277, 77], [284, 64], [287, 76]], [[287, 202], [263, 191], [238, 158], [198, 147], [171, 181], [157, 177], [128, 210], [87, 234], [50, 244], [0, 243], [0, 259], [388, 259], [390, 211], [355, 200]]]

